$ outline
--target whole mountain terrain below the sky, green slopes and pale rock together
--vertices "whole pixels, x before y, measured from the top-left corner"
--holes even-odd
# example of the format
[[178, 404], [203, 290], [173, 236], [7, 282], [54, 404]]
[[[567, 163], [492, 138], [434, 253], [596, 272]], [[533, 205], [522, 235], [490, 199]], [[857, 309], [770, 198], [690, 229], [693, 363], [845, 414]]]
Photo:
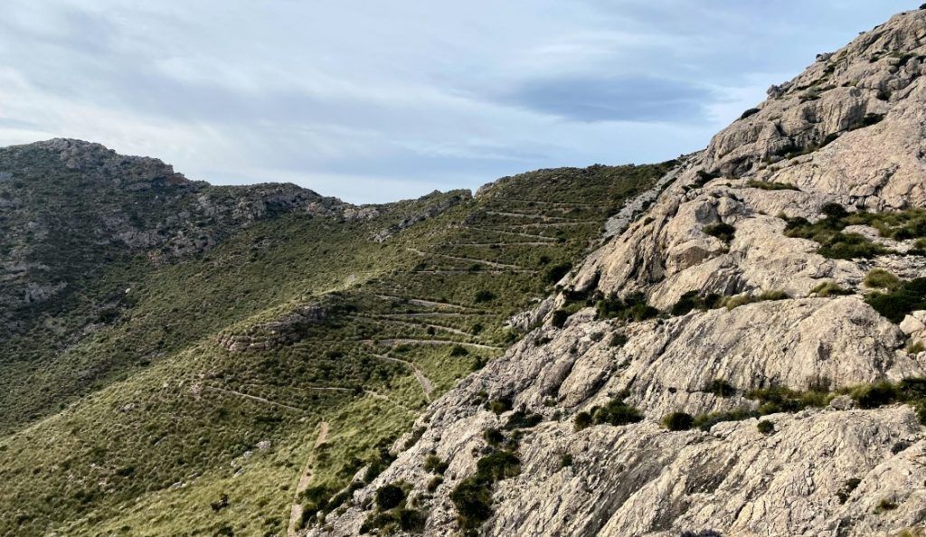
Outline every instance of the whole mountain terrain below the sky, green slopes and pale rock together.
[[378, 206], [0, 149], [0, 534], [926, 535], [924, 74]]

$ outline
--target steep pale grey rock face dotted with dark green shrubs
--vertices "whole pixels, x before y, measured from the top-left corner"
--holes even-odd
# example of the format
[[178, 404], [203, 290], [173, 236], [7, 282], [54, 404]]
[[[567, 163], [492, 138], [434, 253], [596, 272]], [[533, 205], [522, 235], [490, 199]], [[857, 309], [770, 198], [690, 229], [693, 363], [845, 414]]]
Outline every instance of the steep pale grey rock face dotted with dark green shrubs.
[[773, 86], [307, 535], [920, 534], [924, 60], [919, 10]]

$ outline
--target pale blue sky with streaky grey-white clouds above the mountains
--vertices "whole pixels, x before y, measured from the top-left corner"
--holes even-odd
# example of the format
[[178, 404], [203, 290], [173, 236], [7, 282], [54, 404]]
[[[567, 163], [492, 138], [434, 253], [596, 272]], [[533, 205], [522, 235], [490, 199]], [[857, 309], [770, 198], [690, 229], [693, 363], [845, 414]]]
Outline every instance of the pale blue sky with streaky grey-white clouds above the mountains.
[[353, 203], [669, 160], [896, 0], [3, 0], [0, 145]]

